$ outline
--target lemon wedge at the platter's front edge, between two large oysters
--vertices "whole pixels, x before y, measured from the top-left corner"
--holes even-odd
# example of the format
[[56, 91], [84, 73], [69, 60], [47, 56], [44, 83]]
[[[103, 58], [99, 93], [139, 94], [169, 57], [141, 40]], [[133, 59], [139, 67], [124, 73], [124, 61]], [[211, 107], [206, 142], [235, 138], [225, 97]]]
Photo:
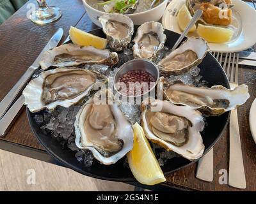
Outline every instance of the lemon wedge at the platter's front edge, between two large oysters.
[[141, 184], [154, 185], [166, 181], [143, 129], [136, 123], [133, 130], [133, 149], [127, 154], [132, 174]]

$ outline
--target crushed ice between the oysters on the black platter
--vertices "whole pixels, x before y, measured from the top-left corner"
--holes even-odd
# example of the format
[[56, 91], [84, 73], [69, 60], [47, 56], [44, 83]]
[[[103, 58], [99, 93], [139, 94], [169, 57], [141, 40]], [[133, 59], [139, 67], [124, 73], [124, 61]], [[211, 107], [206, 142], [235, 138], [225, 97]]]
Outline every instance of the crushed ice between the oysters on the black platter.
[[[109, 66], [101, 65], [101, 64], [93, 64], [93, 65], [84, 65], [81, 68], [90, 69], [93, 71], [97, 71], [102, 75], [105, 75], [109, 78], [109, 85], [113, 87], [113, 77], [115, 75], [116, 69], [118, 69], [122, 64], [127, 61], [130, 61], [133, 58], [132, 53], [133, 43], [130, 43], [129, 47], [124, 50], [124, 52], [118, 53], [119, 62], [115, 67], [109, 68]], [[164, 47], [163, 50], [159, 52], [159, 55], [154, 62], [157, 63], [163, 57], [168, 54], [168, 47]], [[36, 78], [42, 73], [42, 69], [38, 69], [35, 71], [33, 78]], [[169, 82], [175, 82], [177, 80], [182, 81], [184, 84], [196, 85], [198, 87], [207, 85], [207, 82], [202, 80], [202, 76], [199, 75], [200, 69], [198, 67], [192, 68], [187, 73], [184, 73], [179, 76], [170, 76], [167, 78]], [[42, 131], [45, 134], [51, 133], [52, 136], [56, 138], [60, 142], [61, 147], [68, 148], [72, 151], [76, 151], [76, 159], [77, 161], [84, 164], [85, 167], [90, 167], [95, 160], [93, 158], [92, 152], [90, 150], [81, 150], [76, 147], [75, 143], [75, 132], [74, 132], [74, 121], [76, 120], [76, 114], [81, 108], [81, 106], [93, 96], [95, 92], [92, 92], [90, 96], [86, 96], [83, 101], [79, 105], [73, 105], [69, 108], [63, 108], [58, 106], [54, 111], [44, 110], [44, 112], [40, 114], [36, 114], [34, 119], [35, 122], [41, 126]], [[140, 121], [140, 105], [119, 105], [120, 110], [124, 113], [125, 117], [131, 122], [131, 124], [135, 124]], [[157, 161], [160, 166], [164, 166], [168, 162], [169, 159], [173, 157], [178, 157], [175, 152], [168, 152], [163, 149], [159, 145], [155, 143], [151, 143], [152, 149], [156, 155]], [[129, 168], [129, 164], [127, 162], [127, 158], [124, 160], [124, 166]]]

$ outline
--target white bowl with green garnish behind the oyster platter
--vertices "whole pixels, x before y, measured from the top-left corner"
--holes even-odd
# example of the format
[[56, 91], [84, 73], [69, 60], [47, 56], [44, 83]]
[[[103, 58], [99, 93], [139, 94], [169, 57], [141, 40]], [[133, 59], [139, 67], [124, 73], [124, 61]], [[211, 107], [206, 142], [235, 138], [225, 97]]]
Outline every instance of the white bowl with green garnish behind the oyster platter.
[[[135, 25], [141, 25], [148, 21], [158, 21], [163, 16], [167, 3], [168, 0], [164, 0], [155, 8], [140, 13], [127, 14], [126, 16], [130, 17]], [[98, 18], [105, 14], [105, 12], [92, 8], [92, 6], [86, 3], [86, 0], [83, 0], [83, 4], [92, 22], [99, 27], [102, 27], [100, 22], [98, 21]]]

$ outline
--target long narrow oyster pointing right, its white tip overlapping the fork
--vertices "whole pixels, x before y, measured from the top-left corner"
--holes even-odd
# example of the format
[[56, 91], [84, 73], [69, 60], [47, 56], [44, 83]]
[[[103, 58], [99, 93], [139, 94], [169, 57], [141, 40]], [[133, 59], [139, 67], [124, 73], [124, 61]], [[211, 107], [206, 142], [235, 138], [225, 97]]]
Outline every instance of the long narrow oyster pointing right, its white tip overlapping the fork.
[[[163, 78], [160, 79], [163, 82]], [[221, 85], [194, 87], [177, 82], [163, 84], [164, 98], [177, 105], [185, 105], [200, 110], [207, 115], [221, 115], [236, 109], [250, 98], [247, 85], [239, 85], [230, 90]]]

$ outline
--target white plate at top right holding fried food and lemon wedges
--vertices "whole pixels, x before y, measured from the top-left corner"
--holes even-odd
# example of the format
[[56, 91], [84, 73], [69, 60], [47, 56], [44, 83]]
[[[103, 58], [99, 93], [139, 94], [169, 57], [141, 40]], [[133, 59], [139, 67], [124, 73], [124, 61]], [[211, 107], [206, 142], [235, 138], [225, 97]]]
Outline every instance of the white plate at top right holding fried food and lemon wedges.
[[[177, 22], [177, 13], [186, 0], [172, 0], [166, 7], [162, 18], [164, 29], [182, 33]], [[233, 0], [233, 22], [237, 30], [233, 39], [227, 43], [208, 43], [210, 50], [214, 52], [240, 52], [256, 43], [256, 11], [241, 0]], [[196, 33], [188, 36], [197, 36]]]

